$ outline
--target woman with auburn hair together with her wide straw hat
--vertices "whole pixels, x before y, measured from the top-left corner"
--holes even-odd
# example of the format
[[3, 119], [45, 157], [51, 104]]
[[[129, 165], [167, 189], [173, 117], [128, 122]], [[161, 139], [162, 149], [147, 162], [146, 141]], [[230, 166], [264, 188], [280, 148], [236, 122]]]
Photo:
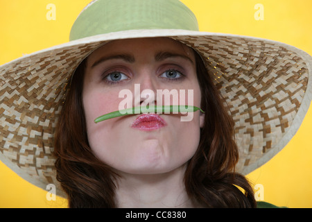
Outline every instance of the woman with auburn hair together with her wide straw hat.
[[[201, 33], [180, 1], [92, 1], [71, 42], [1, 66], [0, 157], [35, 185], [60, 185], [70, 207], [256, 207], [236, 172], [295, 134], [311, 101], [310, 64], [286, 44]], [[123, 89], [132, 106], [164, 105], [157, 89], [192, 90], [167, 105], [205, 114], [94, 123], [119, 110]]]

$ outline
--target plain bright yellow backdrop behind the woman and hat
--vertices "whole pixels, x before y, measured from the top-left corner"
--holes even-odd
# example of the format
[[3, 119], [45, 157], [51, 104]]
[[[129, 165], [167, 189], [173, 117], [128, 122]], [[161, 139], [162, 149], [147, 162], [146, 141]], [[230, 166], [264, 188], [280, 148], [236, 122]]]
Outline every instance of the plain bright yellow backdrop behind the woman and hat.
[[[198, 18], [200, 31], [277, 40], [312, 55], [310, 0], [182, 0]], [[55, 20], [46, 6], [56, 6]], [[89, 0], [11, 0], [0, 3], [0, 65], [23, 54], [68, 42], [74, 20]], [[254, 19], [263, 5], [264, 20]], [[263, 185], [264, 200], [287, 207], [312, 207], [312, 108], [291, 142], [268, 163], [248, 175]], [[57, 197], [21, 179], [0, 162], [0, 207], [67, 207]]]

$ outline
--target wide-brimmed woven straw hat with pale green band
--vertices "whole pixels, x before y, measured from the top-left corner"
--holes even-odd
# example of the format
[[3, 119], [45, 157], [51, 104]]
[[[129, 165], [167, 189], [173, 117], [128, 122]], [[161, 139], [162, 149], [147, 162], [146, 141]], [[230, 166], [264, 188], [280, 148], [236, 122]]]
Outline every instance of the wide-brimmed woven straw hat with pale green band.
[[300, 127], [312, 99], [312, 58], [304, 51], [199, 32], [177, 0], [96, 0], [76, 19], [70, 42], [0, 66], [0, 160], [38, 187], [59, 187], [53, 133], [71, 74], [106, 42], [137, 37], [171, 37], [200, 53], [236, 123], [237, 171], [270, 160]]

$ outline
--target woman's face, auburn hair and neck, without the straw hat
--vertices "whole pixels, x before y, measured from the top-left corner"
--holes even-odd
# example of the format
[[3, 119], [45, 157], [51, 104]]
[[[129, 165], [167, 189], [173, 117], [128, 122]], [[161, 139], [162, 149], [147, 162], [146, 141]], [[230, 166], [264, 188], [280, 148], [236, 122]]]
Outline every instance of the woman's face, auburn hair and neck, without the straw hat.
[[[118, 109], [119, 92], [133, 91], [134, 83], [155, 92], [193, 89], [194, 105], [207, 112], [196, 112], [188, 122], [161, 115], [164, 125], [148, 131], [131, 127], [139, 114], [95, 124], [96, 117]], [[255, 206], [248, 182], [232, 173], [238, 160], [233, 121], [200, 56], [180, 42], [144, 38], [105, 44], [73, 74], [63, 108], [56, 167], [70, 207]]]

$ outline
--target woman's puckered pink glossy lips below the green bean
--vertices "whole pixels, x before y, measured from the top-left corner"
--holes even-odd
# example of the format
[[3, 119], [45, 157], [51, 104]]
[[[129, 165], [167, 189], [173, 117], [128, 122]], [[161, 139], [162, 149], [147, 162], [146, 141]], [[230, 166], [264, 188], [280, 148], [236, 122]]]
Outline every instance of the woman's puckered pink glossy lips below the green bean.
[[158, 114], [141, 114], [131, 125], [132, 128], [144, 131], [157, 130], [164, 126], [166, 126], [166, 121]]

